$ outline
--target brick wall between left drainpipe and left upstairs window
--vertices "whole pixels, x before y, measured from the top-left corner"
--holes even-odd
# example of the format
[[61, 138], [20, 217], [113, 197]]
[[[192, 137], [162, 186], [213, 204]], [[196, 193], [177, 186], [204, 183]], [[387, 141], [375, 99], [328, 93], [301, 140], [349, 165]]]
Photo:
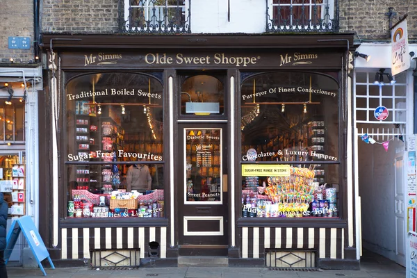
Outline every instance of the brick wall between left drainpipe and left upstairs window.
[[44, 0], [43, 33], [117, 32], [117, 0]]

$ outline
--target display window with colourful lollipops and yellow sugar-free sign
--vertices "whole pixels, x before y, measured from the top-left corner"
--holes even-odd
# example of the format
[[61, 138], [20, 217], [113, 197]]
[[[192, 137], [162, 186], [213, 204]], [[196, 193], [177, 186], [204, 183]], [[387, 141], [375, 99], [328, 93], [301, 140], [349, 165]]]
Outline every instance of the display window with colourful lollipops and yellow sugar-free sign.
[[242, 217], [339, 217], [336, 78], [270, 72], [243, 81]]

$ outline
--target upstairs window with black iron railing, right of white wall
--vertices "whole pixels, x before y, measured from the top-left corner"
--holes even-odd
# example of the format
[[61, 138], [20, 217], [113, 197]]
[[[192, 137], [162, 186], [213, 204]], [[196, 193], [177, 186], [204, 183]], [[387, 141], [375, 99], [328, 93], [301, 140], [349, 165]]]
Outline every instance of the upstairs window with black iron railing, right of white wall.
[[338, 32], [338, 0], [265, 0], [266, 32]]

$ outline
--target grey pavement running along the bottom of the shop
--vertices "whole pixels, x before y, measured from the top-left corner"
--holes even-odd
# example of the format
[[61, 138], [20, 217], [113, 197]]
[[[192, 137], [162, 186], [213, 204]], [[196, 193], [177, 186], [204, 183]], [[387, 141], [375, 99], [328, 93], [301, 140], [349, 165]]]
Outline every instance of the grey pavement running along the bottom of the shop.
[[[8, 278], [43, 277], [39, 268], [9, 266]], [[405, 268], [375, 253], [364, 253], [361, 270], [272, 270], [269, 268], [132, 268], [109, 270], [106, 268], [45, 268], [51, 278], [404, 278]]]

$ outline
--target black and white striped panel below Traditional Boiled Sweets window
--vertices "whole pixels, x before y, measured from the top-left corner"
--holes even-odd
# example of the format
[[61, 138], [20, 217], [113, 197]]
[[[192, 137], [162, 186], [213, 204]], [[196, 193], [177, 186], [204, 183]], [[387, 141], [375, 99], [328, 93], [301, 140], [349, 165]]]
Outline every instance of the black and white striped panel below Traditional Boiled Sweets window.
[[166, 258], [166, 227], [112, 227], [61, 229], [61, 259], [90, 259], [90, 250], [140, 249], [145, 258], [149, 243], [160, 245], [159, 257]]

